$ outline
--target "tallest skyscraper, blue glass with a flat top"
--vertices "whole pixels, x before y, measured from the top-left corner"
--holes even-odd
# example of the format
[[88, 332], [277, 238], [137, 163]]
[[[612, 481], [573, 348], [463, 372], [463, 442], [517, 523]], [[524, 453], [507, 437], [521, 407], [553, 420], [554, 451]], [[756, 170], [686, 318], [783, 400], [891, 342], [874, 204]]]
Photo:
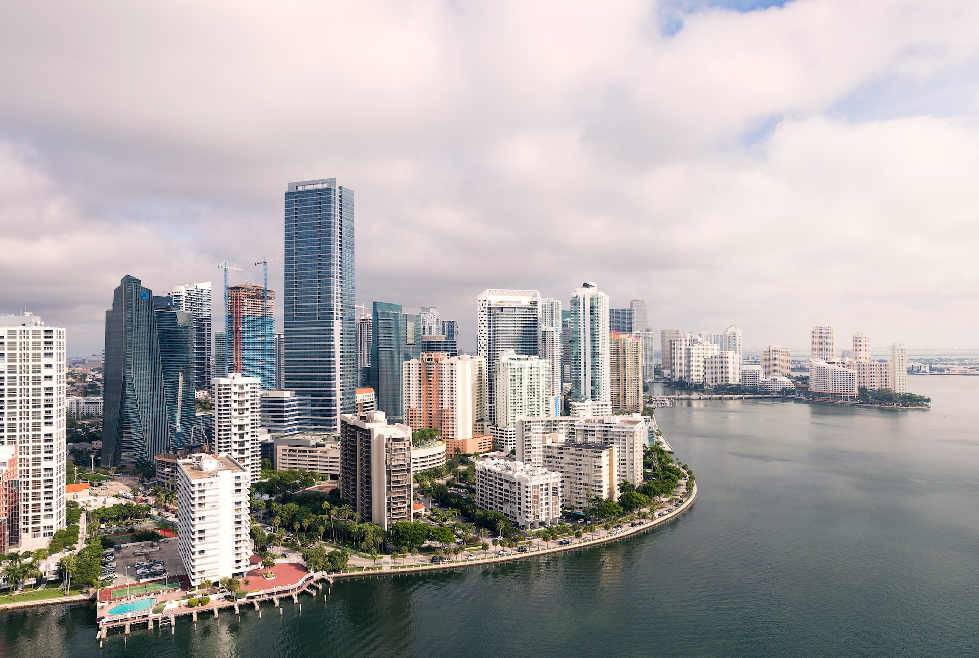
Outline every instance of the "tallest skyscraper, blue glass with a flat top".
[[310, 429], [340, 429], [357, 383], [353, 191], [336, 178], [285, 195], [284, 387], [309, 400]]

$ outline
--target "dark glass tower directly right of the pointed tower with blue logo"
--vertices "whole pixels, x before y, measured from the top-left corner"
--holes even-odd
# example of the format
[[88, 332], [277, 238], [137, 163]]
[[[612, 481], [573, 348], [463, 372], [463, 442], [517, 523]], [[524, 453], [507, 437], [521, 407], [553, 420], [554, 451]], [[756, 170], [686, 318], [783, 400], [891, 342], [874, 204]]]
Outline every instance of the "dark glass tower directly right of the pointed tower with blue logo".
[[170, 447], [203, 444], [204, 428], [196, 427], [194, 313], [179, 310], [170, 297], [154, 297], [153, 303]]

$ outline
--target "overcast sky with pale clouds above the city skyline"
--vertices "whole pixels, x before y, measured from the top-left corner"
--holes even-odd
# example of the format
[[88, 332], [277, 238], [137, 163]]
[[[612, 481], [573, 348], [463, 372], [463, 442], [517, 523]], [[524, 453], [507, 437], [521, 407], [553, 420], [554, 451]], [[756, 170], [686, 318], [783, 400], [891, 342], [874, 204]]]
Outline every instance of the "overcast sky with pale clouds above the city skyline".
[[81, 355], [125, 274], [216, 310], [336, 176], [357, 301], [468, 350], [485, 288], [585, 280], [746, 347], [976, 347], [977, 34], [974, 0], [4, 3], [0, 312]]

